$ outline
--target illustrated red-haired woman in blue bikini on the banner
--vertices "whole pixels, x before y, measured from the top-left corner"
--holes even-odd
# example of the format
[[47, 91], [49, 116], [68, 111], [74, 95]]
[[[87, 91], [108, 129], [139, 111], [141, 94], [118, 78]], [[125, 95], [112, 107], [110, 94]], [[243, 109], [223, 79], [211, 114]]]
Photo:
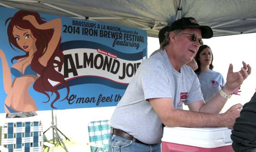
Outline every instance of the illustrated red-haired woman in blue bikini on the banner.
[[[24, 51], [24, 55], [13, 57], [11, 62], [16, 60], [16, 63], [9, 68], [5, 53], [0, 50], [3, 86], [7, 94], [4, 102], [5, 112], [38, 110], [36, 102], [29, 94], [29, 88], [33, 83], [34, 90], [48, 97], [48, 101], [44, 102], [50, 101], [48, 93], [55, 93], [51, 107], [56, 108], [53, 104], [60, 98], [60, 94], [49, 80], [64, 85], [67, 89], [66, 97], [69, 93], [64, 76], [55, 70], [57, 67], [58, 71], [61, 71], [64, 61], [64, 55], [59, 48], [61, 19], [46, 22], [36, 12], [18, 11], [12, 18], [8, 18], [5, 24], [8, 22], [7, 35], [11, 48], [15, 46]], [[11, 74], [15, 77], [14, 80]]]

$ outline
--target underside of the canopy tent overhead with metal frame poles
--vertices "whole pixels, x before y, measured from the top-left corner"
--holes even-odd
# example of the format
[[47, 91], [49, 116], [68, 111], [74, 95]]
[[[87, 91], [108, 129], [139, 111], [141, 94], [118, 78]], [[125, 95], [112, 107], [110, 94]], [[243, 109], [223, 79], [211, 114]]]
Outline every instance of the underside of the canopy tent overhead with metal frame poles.
[[256, 32], [256, 0], [0, 0], [0, 5], [147, 31], [182, 17], [210, 26], [214, 37]]

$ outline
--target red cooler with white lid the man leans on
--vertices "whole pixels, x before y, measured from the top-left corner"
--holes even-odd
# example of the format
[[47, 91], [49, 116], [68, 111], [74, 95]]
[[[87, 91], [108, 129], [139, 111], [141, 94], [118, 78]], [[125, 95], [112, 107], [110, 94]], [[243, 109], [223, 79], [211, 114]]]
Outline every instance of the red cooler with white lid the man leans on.
[[219, 128], [164, 127], [163, 152], [234, 152], [231, 130]]

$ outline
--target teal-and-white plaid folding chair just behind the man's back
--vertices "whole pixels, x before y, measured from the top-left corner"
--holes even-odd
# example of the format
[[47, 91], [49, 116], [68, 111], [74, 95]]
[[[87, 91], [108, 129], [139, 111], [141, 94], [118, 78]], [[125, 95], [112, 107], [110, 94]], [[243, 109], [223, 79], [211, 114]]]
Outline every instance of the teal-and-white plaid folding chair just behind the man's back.
[[88, 125], [91, 152], [105, 152], [109, 149], [109, 120], [90, 122]]

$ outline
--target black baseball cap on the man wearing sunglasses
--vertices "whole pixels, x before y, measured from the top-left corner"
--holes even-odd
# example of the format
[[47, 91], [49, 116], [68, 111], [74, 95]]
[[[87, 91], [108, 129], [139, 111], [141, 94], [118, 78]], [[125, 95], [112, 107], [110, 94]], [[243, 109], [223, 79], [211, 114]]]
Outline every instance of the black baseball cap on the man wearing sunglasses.
[[199, 22], [195, 18], [181, 18], [172, 23], [169, 26], [168, 32], [177, 29], [188, 29], [188, 28], [198, 28], [201, 29], [202, 38], [211, 38], [213, 35], [212, 29], [209, 26], [200, 26]]

